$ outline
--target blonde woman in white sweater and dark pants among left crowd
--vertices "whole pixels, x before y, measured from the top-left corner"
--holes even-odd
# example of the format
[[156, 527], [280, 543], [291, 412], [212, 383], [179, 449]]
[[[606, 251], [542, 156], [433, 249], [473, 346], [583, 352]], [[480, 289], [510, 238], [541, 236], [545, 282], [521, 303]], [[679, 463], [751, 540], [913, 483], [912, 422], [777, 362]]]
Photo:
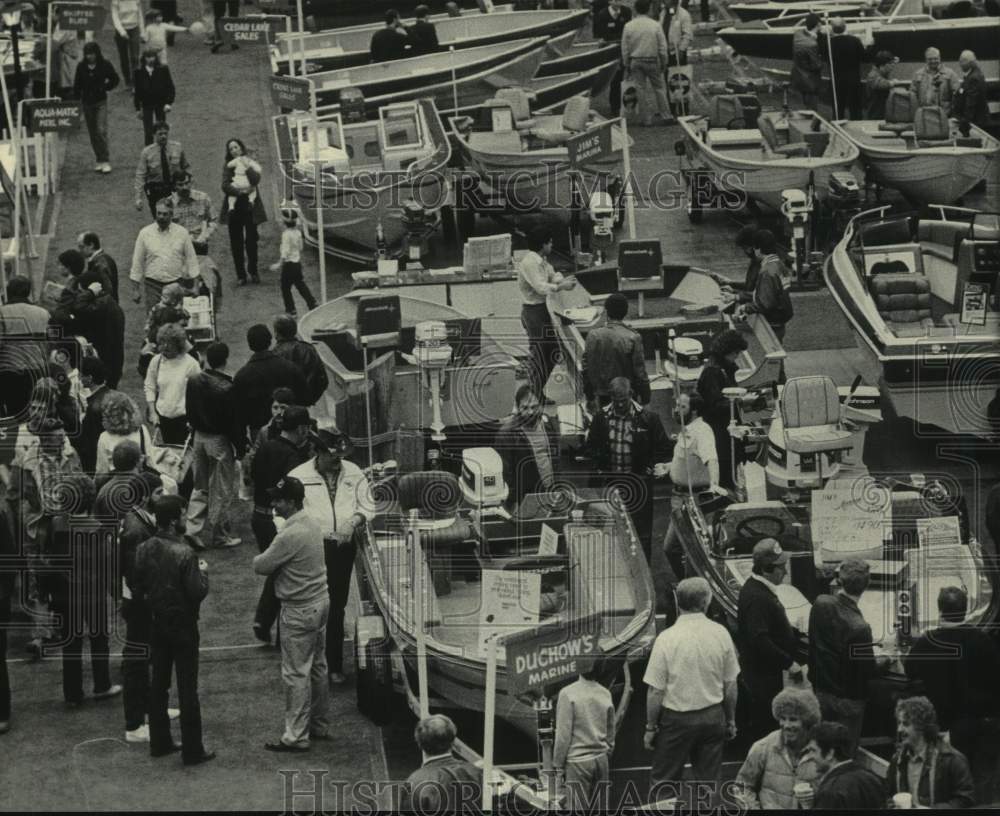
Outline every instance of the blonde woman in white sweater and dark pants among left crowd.
[[165, 445], [180, 445], [187, 439], [187, 381], [201, 371], [188, 353], [187, 335], [176, 323], [160, 328], [156, 336], [159, 352], [146, 372], [146, 404], [149, 422], [160, 426]]

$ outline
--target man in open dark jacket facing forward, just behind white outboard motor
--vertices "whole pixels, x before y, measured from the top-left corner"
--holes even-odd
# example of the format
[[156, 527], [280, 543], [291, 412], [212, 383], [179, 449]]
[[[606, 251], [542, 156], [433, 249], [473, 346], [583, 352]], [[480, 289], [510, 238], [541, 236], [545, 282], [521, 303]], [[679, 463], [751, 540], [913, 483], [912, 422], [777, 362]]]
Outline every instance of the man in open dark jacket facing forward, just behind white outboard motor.
[[530, 384], [517, 389], [514, 406], [514, 414], [504, 420], [493, 443], [503, 460], [511, 507], [517, 507], [528, 493], [547, 491], [555, 480], [559, 459], [559, 429], [542, 412]]

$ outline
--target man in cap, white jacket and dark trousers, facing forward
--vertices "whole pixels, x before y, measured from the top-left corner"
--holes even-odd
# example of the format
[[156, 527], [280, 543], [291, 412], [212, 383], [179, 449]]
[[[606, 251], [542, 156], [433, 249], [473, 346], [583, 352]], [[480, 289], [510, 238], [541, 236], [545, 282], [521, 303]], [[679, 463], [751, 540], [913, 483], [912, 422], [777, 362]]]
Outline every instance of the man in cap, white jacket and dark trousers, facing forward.
[[356, 533], [375, 515], [371, 484], [361, 468], [348, 462], [350, 437], [335, 425], [320, 427], [312, 435], [316, 456], [289, 473], [305, 487], [305, 511], [323, 531], [326, 574], [330, 591], [330, 621], [326, 627], [326, 654], [330, 682], [342, 685], [344, 677], [344, 610], [351, 588]]

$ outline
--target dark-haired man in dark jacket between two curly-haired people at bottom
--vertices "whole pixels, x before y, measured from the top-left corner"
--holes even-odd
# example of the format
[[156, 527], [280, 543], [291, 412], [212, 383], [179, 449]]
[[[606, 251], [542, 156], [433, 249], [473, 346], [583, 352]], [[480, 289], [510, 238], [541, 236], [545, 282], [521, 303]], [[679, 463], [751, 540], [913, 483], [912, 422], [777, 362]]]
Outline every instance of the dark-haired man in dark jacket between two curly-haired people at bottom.
[[882, 780], [855, 762], [851, 734], [840, 723], [821, 722], [809, 733], [809, 744], [799, 760], [811, 760], [818, 777], [809, 810], [881, 810], [885, 807]]

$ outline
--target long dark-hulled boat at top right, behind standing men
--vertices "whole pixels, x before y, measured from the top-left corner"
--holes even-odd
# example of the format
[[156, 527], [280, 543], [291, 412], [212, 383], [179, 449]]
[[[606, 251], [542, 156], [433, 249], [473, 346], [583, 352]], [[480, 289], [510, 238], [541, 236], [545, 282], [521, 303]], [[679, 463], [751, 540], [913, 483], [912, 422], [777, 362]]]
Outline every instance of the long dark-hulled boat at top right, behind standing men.
[[[930, 46], [940, 49], [942, 61], [956, 70], [959, 54], [971, 49], [987, 81], [995, 83], [1000, 78], [1000, 18], [936, 19], [923, 13], [918, 0], [900, 0], [888, 15], [841, 17], [849, 34], [862, 40], [868, 40], [870, 35], [874, 45], [867, 49], [869, 59], [878, 51], [898, 57], [893, 79], [911, 79], [924, 67], [924, 51]], [[774, 20], [752, 20], [722, 28], [717, 34], [761, 70], [787, 80], [792, 66], [794, 29], [803, 25], [804, 19], [800, 18], [794, 26]], [[824, 75], [829, 79], [829, 66], [824, 65]]]

